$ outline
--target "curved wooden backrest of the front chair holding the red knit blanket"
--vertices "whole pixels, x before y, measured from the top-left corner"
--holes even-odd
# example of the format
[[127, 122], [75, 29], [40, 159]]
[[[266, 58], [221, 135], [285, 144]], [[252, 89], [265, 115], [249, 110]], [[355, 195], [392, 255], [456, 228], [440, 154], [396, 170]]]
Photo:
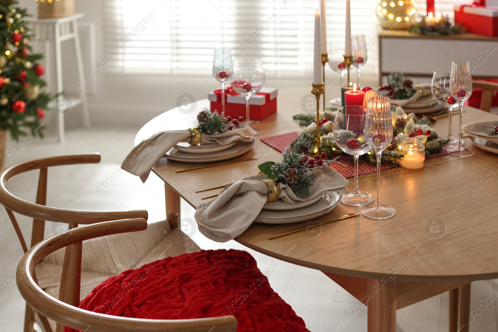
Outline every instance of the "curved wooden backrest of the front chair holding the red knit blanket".
[[[111, 234], [139, 231], [147, 228], [144, 219], [107, 221], [85, 225], [42, 240], [29, 249], [18, 265], [17, 287], [33, 310], [44, 318], [86, 332], [235, 332], [237, 319], [234, 316], [201, 318], [190, 320], [136, 319], [82, 310], [59, 301], [45, 293], [34, 280], [34, 268], [50, 253], [82, 241]], [[77, 265], [77, 262], [70, 262]], [[70, 279], [69, 290], [79, 278]], [[75, 287], [76, 288], [76, 287]], [[48, 327], [50, 329], [50, 327]], [[47, 330], [51, 331], [51, 330]]]

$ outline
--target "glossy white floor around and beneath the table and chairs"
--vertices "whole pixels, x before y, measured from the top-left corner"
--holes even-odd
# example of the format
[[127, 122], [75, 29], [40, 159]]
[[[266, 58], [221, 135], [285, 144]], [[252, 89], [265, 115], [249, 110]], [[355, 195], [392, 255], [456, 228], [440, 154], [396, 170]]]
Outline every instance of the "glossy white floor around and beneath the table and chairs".
[[[138, 178], [121, 174], [104, 191], [97, 190], [120, 167], [120, 163], [133, 144], [138, 128], [92, 127], [67, 132], [66, 143], [58, 144], [54, 138], [41, 141], [30, 138], [11, 163], [51, 155], [100, 152], [100, 164], [67, 166], [49, 170], [47, 202], [51, 205], [86, 210], [129, 210], [146, 209], [149, 220], [165, 217], [164, 189], [162, 181], [151, 175], [145, 184]], [[14, 143], [9, 142], [7, 151]], [[15, 181], [14, 181], [15, 180]], [[15, 177], [7, 186], [26, 200], [35, 196], [37, 173], [29, 172]], [[194, 209], [182, 205], [182, 218], [193, 219]], [[22, 331], [24, 301], [15, 283], [9, 285], [9, 278], [15, 272], [22, 256], [22, 249], [15, 232], [3, 209], [0, 211], [3, 231], [0, 233], [0, 331]], [[19, 218], [25, 237], [30, 237], [30, 221]], [[46, 235], [57, 232], [60, 225], [47, 225]], [[242, 248], [248, 250], [257, 260], [261, 270], [278, 264], [269, 274], [274, 290], [301, 316], [313, 332], [363, 332], [367, 326], [367, 308], [320, 271], [275, 260], [269, 256], [229, 241], [216, 243], [199, 232], [193, 239], [203, 248]], [[481, 281], [472, 284], [471, 307], [498, 294], [496, 281]], [[474, 308], [475, 309], [475, 308]], [[475, 309], [476, 310], [476, 309]], [[471, 319], [472, 332], [496, 332], [498, 307], [496, 301], [487, 307], [475, 320]], [[479, 313], [476, 311], [476, 313]], [[433, 297], [398, 311], [398, 332], [443, 332], [448, 331], [448, 294]]]

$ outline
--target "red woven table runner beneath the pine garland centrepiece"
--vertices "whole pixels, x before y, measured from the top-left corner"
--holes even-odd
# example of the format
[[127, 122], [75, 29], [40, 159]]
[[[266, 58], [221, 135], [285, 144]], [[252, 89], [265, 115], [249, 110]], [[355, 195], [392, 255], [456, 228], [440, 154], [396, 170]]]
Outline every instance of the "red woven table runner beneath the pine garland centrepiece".
[[[278, 151], [282, 152], [287, 146], [290, 145], [297, 137], [299, 136], [299, 131], [294, 131], [294, 132], [289, 132], [287, 134], [281, 134], [281, 135], [275, 135], [275, 136], [267, 136], [261, 138], [261, 140], [268, 144], [269, 146], [277, 149]], [[439, 153], [433, 153], [428, 157], [425, 157], [425, 159], [430, 159], [430, 158], [435, 158], [435, 157], [440, 157], [447, 155], [448, 152], [446, 152], [446, 149], [443, 148], [443, 151]], [[329, 156], [330, 157], [330, 156]], [[346, 166], [340, 165], [340, 164], [332, 164], [330, 167], [341, 173], [342, 176], [345, 178], [352, 178], [355, 176], [355, 165], [351, 163], [351, 157], [350, 156], [341, 156], [338, 161], [342, 162]], [[380, 170], [386, 170], [390, 169], [392, 166], [389, 165], [380, 165]], [[360, 163], [358, 165], [358, 175], [365, 175], [365, 174], [370, 174], [374, 173], [377, 171], [377, 167], [366, 162], [362, 161], [360, 159]]]

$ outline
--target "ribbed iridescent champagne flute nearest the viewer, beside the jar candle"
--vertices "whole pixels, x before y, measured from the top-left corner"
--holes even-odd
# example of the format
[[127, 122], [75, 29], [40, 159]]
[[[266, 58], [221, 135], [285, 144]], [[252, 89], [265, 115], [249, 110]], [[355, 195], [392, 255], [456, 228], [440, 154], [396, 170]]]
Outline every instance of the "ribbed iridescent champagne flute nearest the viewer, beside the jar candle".
[[394, 216], [396, 210], [380, 204], [380, 158], [382, 151], [392, 141], [392, 116], [389, 98], [370, 97], [367, 102], [365, 137], [377, 156], [377, 204], [362, 209], [362, 215], [371, 219], [386, 219]]

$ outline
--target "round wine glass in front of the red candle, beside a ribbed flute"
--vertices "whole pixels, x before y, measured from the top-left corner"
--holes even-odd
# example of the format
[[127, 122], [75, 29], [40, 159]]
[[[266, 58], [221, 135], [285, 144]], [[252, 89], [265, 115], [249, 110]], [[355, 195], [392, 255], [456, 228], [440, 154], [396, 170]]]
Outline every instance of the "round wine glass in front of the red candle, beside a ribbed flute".
[[355, 157], [355, 189], [343, 194], [341, 203], [349, 206], [369, 205], [373, 195], [358, 189], [358, 159], [372, 150], [365, 138], [365, 112], [363, 105], [350, 105], [337, 110], [334, 119], [334, 140], [337, 146]]

